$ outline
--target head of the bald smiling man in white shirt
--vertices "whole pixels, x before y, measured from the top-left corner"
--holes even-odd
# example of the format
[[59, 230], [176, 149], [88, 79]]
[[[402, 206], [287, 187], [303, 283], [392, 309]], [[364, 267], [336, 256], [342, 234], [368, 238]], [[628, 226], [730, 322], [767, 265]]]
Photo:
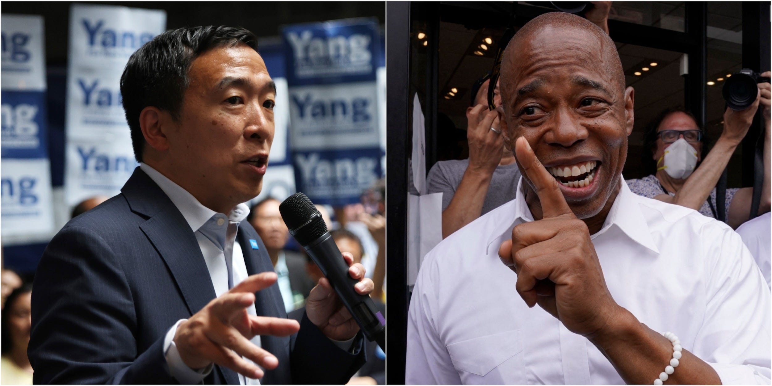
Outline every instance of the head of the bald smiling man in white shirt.
[[[591, 218], [607, 202], [611, 208], [609, 198], [619, 189], [633, 90], [625, 90], [616, 47], [603, 31], [574, 15], [543, 16], [540, 24], [518, 32], [503, 59], [505, 144], [514, 149], [517, 138], [525, 137], [574, 214]], [[557, 22], [546, 21], [550, 17]], [[533, 184], [523, 177], [529, 205], [540, 207]]]

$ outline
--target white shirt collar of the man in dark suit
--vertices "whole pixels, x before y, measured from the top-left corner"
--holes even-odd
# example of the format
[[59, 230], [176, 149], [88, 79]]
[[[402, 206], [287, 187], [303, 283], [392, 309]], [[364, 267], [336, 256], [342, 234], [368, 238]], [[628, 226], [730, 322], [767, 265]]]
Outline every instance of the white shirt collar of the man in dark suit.
[[[198, 202], [198, 200], [191, 195], [190, 192], [186, 191], [185, 188], [175, 184], [174, 181], [171, 181], [168, 177], [161, 174], [161, 172], [155, 170], [150, 165], [140, 163], [140, 168], [158, 185], [159, 188], [161, 188], [162, 191], [164, 191], [164, 193], [166, 193], [166, 195], [168, 195], [171, 202], [182, 214], [182, 217], [188, 222], [188, 225], [190, 225], [193, 232], [198, 231], [198, 229], [201, 228], [201, 225], [204, 225], [209, 218], [212, 218], [213, 215], [217, 214], [217, 212], [212, 209], [201, 205], [201, 202]], [[233, 208], [228, 215], [228, 219], [231, 222], [242, 222], [247, 215], [249, 215], [249, 206], [242, 203]]]

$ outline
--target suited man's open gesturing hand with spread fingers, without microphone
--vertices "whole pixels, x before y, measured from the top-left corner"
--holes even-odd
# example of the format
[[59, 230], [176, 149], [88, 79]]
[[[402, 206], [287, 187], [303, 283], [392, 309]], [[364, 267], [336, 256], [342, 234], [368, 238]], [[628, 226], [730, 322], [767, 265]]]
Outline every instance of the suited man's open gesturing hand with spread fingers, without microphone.
[[249, 276], [181, 323], [174, 344], [182, 361], [194, 369], [214, 362], [248, 378], [262, 378], [263, 371], [242, 357], [269, 370], [276, 368], [276, 357], [249, 340], [256, 335], [286, 337], [295, 334], [300, 324], [291, 319], [256, 317], [246, 311], [255, 303], [255, 293], [274, 282], [273, 272]]

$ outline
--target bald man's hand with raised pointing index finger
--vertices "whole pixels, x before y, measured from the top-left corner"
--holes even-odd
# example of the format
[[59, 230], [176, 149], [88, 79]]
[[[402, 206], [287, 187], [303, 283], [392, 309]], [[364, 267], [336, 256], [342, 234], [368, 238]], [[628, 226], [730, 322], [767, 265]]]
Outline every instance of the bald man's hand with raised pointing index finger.
[[539, 304], [568, 330], [593, 337], [624, 309], [608, 292], [587, 225], [571, 212], [559, 182], [524, 137], [515, 153], [536, 188], [543, 218], [516, 225], [499, 257], [517, 273], [517, 293], [529, 307]]

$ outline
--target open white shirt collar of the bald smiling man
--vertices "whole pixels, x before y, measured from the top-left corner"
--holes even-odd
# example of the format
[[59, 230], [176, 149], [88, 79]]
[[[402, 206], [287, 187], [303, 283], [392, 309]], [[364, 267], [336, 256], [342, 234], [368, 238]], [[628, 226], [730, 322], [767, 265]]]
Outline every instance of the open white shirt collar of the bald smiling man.
[[[630, 191], [630, 188], [628, 188], [628, 185], [625, 182], [625, 178], [620, 176], [619, 179], [621, 188], [614, 201], [614, 205], [611, 205], [611, 210], [608, 211], [608, 216], [603, 224], [603, 228], [594, 235], [591, 235], [591, 239], [595, 239], [598, 235], [602, 235], [611, 228], [611, 226], [616, 226], [631, 240], [659, 254], [659, 249], [657, 249], [657, 246], [652, 239], [652, 234], [648, 229], [648, 222], [646, 222], [641, 213], [641, 208], [637, 201], [638, 197], [635, 193]], [[493, 235], [486, 243], [486, 253], [490, 253], [492, 246], [495, 246], [495, 250], [498, 250], [501, 240], [510, 239], [512, 229], [515, 225], [533, 221], [533, 215], [526, 203], [525, 193], [523, 191], [523, 181], [523, 177], [520, 177], [520, 181], [517, 183], [517, 195], [515, 199], [510, 201], [510, 203], [503, 205], [503, 207], [506, 208], [501, 207], [502, 211], [496, 211], [496, 215], [499, 215], [501, 219], [513, 218], [513, 220], [510, 222], [501, 222], [503, 229], [501, 229], [501, 232], [493, 232]]]

